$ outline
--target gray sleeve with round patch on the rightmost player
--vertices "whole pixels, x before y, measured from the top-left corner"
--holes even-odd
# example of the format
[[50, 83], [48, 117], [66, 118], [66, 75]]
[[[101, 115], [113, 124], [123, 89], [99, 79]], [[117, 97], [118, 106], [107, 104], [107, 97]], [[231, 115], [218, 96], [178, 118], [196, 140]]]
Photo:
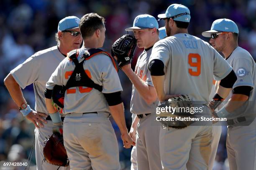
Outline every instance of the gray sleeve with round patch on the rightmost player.
[[251, 86], [253, 85], [253, 63], [243, 57], [238, 57], [233, 63], [233, 70], [236, 72], [237, 80], [233, 85], [233, 89], [238, 86]]

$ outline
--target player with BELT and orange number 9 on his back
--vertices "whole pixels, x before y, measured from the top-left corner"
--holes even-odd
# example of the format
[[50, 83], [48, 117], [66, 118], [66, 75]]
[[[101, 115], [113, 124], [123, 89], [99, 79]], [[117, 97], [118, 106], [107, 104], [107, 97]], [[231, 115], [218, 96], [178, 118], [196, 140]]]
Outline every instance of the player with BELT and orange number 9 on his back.
[[[192, 101], [207, 103], [213, 75], [221, 80], [215, 94], [225, 98], [236, 81], [232, 67], [207, 42], [189, 35], [190, 12], [181, 4], [170, 5], [164, 19], [168, 37], [156, 42], [148, 63], [160, 101], [173, 95], [189, 95]], [[202, 105], [200, 106], [202, 107]], [[203, 113], [210, 113], [204, 107]], [[207, 170], [212, 145], [212, 126], [161, 128], [159, 146], [164, 170]]]

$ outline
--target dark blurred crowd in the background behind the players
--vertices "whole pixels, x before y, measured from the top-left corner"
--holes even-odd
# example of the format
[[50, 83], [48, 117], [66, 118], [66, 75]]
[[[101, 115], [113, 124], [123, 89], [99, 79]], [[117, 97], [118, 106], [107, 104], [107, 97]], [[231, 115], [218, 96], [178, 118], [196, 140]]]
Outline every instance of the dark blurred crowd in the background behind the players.
[[[81, 18], [91, 12], [102, 15], [106, 19], [107, 30], [103, 48], [110, 52], [113, 42], [126, 33], [124, 29], [132, 26], [137, 15], [147, 13], [157, 18], [172, 3], [181, 3], [189, 8], [189, 33], [205, 41], [209, 40], [203, 38], [201, 32], [209, 30], [215, 19], [229, 18], [236, 22], [239, 46], [248, 50], [256, 60], [256, 0], [0, 0], [0, 166], [5, 160], [26, 161], [34, 136], [33, 124], [21, 116], [3, 79], [34, 52], [56, 45], [54, 34], [59, 20], [72, 15]], [[159, 27], [162, 26], [164, 22], [160, 21]], [[142, 50], [136, 49], [133, 67]], [[124, 90], [122, 95], [127, 126], [130, 128], [131, 82], [122, 72], [119, 75]], [[26, 87], [23, 94], [34, 108], [33, 86]], [[121, 168], [128, 170], [131, 150], [123, 149], [117, 125], [113, 123], [113, 126], [120, 142]], [[215, 170], [228, 169], [225, 138], [226, 128], [223, 127]]]

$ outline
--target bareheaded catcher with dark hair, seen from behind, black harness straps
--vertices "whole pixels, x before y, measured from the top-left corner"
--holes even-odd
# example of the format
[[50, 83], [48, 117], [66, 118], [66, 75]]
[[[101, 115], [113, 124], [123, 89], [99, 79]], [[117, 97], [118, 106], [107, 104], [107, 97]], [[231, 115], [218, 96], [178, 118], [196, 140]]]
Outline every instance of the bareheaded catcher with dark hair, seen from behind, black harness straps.
[[[124, 147], [130, 148], [133, 144], [125, 125], [120, 97], [122, 87], [111, 58], [98, 52], [84, 60], [87, 51], [103, 46], [106, 31], [104, 22], [105, 19], [96, 13], [86, 14], [81, 18], [79, 28], [84, 45], [75, 53], [77, 63], [68, 58], [63, 60], [46, 84], [46, 94], [55, 85], [66, 85], [69, 76], [72, 77], [72, 72], [75, 72], [75, 65], [82, 63], [86, 75], [102, 87], [102, 91], [88, 86], [72, 87], [65, 92], [63, 138], [72, 170], [120, 169], [118, 142], [109, 120], [110, 112], [120, 129]], [[75, 80], [80, 78], [81, 73], [76, 73]], [[59, 113], [54, 110], [51, 99], [47, 97], [46, 106], [54, 126], [61, 133]]]

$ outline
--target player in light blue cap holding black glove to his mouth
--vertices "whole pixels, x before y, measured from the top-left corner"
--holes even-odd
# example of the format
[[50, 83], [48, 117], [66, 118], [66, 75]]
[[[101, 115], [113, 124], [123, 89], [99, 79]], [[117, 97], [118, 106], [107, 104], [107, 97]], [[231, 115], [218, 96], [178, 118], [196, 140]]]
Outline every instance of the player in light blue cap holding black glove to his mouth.
[[[125, 31], [133, 31], [138, 47], [144, 48], [144, 51], [138, 57], [135, 72], [131, 69], [131, 64], [121, 67], [133, 83], [131, 113], [135, 114], [136, 117], [131, 125], [130, 136], [133, 141], [136, 141], [138, 170], [161, 169], [159, 154], [160, 125], [153, 125], [159, 101], [147, 68], [152, 47], [159, 40], [158, 28], [156, 18], [144, 14], [138, 15], [134, 19], [133, 27], [125, 29]], [[131, 157], [133, 158], [133, 153]]]

